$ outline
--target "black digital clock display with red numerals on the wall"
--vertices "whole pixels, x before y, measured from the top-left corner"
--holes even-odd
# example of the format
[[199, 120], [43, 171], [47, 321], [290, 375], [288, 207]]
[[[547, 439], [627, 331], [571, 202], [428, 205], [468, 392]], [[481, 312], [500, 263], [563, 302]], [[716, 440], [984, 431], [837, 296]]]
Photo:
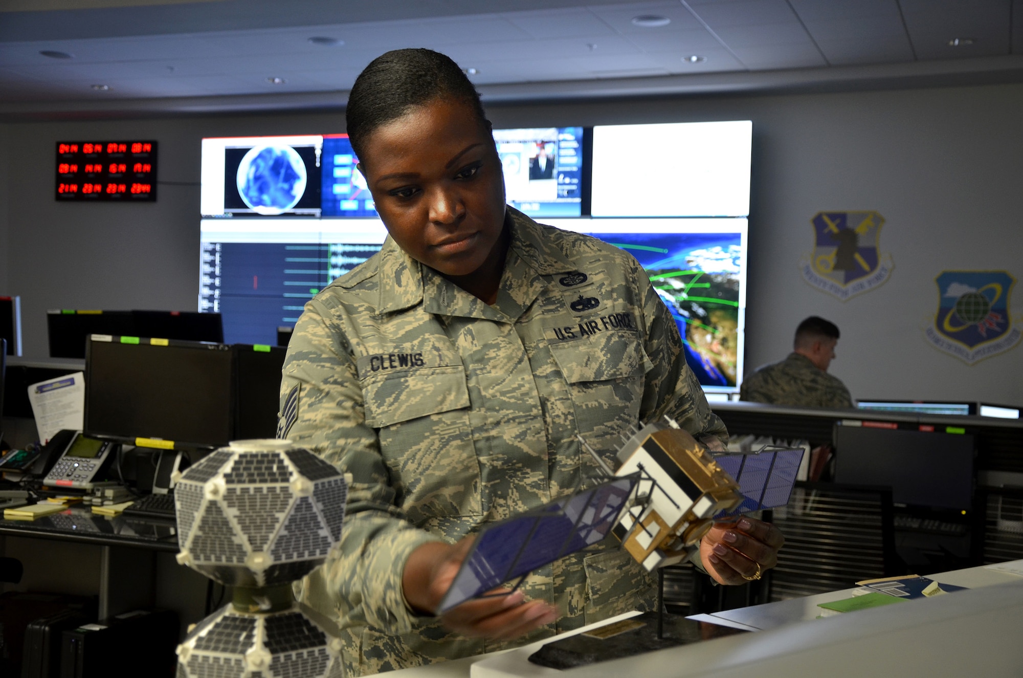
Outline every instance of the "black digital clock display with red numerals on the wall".
[[57, 141], [56, 199], [157, 200], [155, 141]]

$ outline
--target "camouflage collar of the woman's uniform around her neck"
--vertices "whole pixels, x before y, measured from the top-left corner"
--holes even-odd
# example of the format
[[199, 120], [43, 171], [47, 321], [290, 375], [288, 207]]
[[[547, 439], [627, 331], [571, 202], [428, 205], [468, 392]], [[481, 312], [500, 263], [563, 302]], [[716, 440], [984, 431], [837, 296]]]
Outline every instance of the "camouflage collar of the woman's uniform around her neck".
[[394, 312], [421, 301], [424, 310], [438, 315], [514, 323], [546, 286], [542, 276], [571, 272], [575, 265], [544, 237], [543, 226], [511, 207], [504, 218], [511, 230], [511, 243], [493, 306], [420, 264], [388, 237], [381, 249], [377, 308]]

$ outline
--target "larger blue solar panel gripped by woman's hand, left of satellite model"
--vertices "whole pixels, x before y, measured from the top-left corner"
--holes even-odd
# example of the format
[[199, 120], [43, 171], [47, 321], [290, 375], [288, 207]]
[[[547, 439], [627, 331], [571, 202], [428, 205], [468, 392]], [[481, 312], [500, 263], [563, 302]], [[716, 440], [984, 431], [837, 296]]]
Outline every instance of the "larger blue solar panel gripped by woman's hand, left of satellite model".
[[438, 611], [445, 612], [504, 582], [596, 544], [618, 522], [638, 480], [638, 473], [614, 478], [484, 527]]

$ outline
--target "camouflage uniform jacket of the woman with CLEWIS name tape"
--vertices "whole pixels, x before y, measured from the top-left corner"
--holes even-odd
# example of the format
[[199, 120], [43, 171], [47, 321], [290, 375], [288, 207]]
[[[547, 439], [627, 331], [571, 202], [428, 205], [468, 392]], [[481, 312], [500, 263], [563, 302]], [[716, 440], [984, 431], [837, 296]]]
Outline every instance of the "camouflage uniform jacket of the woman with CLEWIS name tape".
[[562, 617], [516, 643], [464, 638], [416, 616], [401, 576], [421, 544], [453, 543], [594, 476], [576, 433], [611, 463], [628, 426], [663, 414], [726, 439], [638, 262], [511, 208], [506, 218], [495, 304], [388, 238], [307, 303], [295, 328], [278, 436], [354, 476], [341, 544], [299, 595], [339, 621], [350, 676], [649, 608], [653, 579], [610, 540], [528, 577], [527, 596]]

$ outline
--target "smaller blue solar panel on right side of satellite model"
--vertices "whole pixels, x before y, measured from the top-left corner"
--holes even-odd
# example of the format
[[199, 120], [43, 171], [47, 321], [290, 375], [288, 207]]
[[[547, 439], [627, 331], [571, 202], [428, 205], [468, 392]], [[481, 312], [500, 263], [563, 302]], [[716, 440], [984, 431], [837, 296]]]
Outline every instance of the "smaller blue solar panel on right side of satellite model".
[[714, 461], [739, 483], [742, 503], [715, 515], [721, 518], [739, 513], [776, 508], [789, 503], [804, 451], [761, 450], [715, 456]]

